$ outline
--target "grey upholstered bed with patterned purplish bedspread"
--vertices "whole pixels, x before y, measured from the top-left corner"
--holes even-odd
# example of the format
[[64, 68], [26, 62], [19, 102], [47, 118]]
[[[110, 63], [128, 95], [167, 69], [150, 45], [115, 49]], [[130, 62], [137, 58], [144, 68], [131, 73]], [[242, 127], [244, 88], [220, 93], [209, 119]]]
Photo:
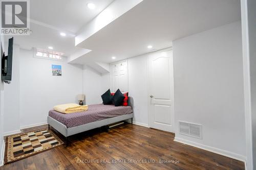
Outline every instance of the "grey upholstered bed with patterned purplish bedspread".
[[67, 137], [106, 126], [122, 120], [133, 119], [133, 109], [129, 97], [129, 106], [89, 105], [87, 111], [63, 114], [54, 110], [49, 111], [47, 122], [52, 128]]

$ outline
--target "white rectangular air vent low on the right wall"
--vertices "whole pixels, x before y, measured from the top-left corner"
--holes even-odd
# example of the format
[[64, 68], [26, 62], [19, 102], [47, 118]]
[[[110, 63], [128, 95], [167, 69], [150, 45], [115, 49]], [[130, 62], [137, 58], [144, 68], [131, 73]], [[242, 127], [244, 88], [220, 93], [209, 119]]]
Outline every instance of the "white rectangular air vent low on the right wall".
[[179, 121], [179, 133], [202, 139], [202, 125]]

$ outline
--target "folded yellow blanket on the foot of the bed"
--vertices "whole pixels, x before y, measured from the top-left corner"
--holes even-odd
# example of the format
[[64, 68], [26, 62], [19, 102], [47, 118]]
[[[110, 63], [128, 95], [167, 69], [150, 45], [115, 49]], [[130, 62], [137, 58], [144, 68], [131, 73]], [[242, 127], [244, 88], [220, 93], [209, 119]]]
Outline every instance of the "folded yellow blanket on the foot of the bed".
[[57, 105], [53, 107], [54, 110], [61, 112], [61, 113], [75, 113], [75, 112], [82, 112], [88, 110], [88, 106], [80, 106], [75, 103]]

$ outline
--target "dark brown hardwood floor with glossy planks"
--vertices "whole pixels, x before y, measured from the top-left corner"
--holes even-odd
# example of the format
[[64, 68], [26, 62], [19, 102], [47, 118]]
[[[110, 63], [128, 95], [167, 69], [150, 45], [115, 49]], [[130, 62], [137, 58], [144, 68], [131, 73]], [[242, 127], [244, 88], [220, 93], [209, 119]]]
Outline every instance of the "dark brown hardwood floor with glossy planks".
[[0, 169], [244, 169], [241, 161], [173, 139], [172, 133], [131, 124], [108, 132], [96, 129], [71, 136], [68, 147], [63, 145]]

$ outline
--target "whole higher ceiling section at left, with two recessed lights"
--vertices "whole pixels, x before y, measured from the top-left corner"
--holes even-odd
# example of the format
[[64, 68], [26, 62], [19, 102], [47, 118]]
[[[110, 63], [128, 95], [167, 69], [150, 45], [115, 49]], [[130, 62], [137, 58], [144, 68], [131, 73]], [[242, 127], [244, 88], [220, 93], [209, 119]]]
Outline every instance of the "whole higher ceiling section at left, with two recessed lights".
[[[32, 0], [30, 1], [30, 36], [14, 36], [14, 43], [30, 50], [32, 47], [48, 49], [70, 56], [76, 51], [75, 35], [79, 29], [96, 17], [114, 0]], [[87, 8], [93, 2], [94, 10]], [[67, 34], [61, 37], [60, 32]], [[7, 39], [11, 36], [5, 36]]]

